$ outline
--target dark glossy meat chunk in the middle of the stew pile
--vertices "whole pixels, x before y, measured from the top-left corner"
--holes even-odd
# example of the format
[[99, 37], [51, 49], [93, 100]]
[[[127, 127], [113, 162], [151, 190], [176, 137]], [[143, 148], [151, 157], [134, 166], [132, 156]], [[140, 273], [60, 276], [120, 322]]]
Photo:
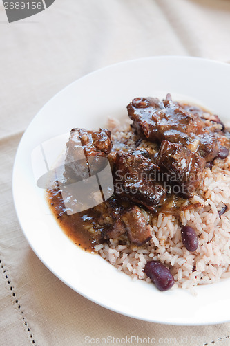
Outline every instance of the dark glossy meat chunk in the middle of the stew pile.
[[113, 170], [115, 193], [155, 211], [166, 197], [166, 190], [155, 182], [160, 169], [143, 153], [136, 152], [117, 152]]

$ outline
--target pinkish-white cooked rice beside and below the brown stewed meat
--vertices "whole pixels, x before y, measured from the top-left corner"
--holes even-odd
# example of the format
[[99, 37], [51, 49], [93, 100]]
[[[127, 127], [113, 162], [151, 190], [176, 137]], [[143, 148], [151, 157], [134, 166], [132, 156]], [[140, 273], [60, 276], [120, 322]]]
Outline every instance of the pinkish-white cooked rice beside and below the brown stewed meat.
[[[115, 149], [135, 147], [135, 134], [129, 125], [111, 120]], [[117, 147], [116, 147], [117, 145]], [[153, 143], [142, 146], [156, 150]], [[95, 246], [95, 251], [133, 280], [151, 280], [143, 271], [146, 262], [159, 260], [166, 264], [175, 278], [175, 287], [191, 289], [198, 284], [218, 282], [230, 277], [230, 155], [215, 160], [212, 170], [204, 169], [200, 188], [189, 200], [193, 208], [180, 212], [179, 217], [160, 213], [150, 226], [152, 239], [144, 246], [120, 245], [115, 239]], [[219, 217], [218, 211], [227, 206]], [[182, 244], [180, 225], [192, 226], [199, 237], [198, 249], [191, 253]]]

